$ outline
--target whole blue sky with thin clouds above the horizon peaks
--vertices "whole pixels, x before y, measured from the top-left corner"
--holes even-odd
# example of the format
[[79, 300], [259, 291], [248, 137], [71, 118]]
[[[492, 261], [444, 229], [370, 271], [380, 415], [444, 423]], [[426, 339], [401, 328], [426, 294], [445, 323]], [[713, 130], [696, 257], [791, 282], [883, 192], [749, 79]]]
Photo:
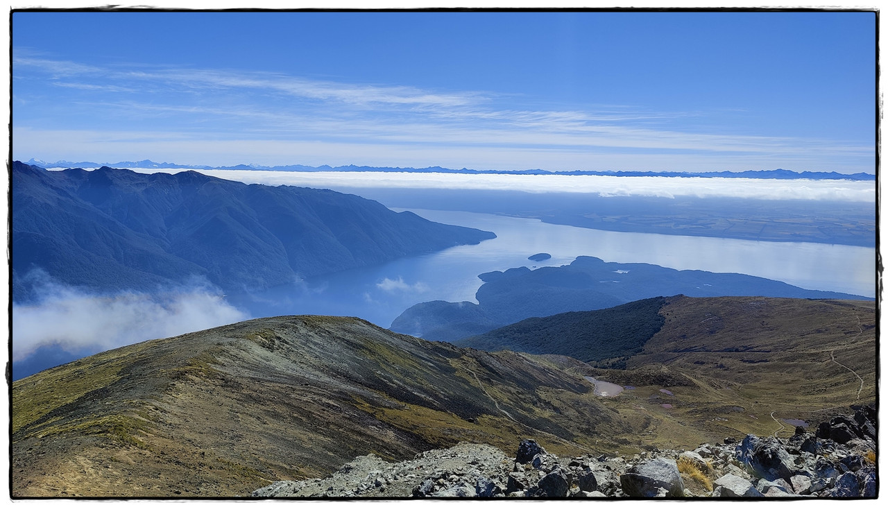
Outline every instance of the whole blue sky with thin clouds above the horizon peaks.
[[875, 172], [872, 12], [15, 12], [13, 157]]

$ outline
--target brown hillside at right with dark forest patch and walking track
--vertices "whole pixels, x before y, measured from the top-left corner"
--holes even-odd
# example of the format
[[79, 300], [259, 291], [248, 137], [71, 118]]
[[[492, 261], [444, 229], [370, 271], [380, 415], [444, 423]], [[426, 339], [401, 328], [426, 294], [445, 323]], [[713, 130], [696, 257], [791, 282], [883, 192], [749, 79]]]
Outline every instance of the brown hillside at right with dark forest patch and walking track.
[[[627, 339], [630, 332], [589, 329], [585, 344], [561, 334], [583, 323], [601, 325], [607, 316], [601, 311], [523, 321], [464, 343], [497, 350], [507, 345], [503, 338], [521, 337], [525, 350], [584, 359], [614, 337], [619, 343], [610, 344], [613, 358], [596, 358], [572, 371], [630, 386], [603, 401], [621, 413], [651, 417], [649, 444], [670, 448], [703, 433], [787, 436], [791, 424], [814, 426], [854, 405], [874, 403], [875, 306], [853, 300], [667, 297], [658, 312], [662, 326], [640, 350]], [[646, 306], [621, 310], [626, 321], [651, 321]], [[503, 341], [495, 343], [496, 338]]]

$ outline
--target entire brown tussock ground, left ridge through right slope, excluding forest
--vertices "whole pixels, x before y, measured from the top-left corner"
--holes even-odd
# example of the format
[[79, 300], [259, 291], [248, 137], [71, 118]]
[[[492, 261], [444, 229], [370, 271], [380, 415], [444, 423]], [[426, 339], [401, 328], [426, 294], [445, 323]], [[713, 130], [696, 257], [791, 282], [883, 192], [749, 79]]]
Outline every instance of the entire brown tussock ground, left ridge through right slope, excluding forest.
[[[12, 496], [242, 496], [358, 456], [399, 462], [460, 442], [656, 454], [785, 437], [876, 401], [873, 302], [656, 304], [662, 327], [625, 369], [311, 315], [75, 360], [12, 383]], [[602, 395], [603, 382], [619, 391]], [[844, 428], [823, 438], [847, 441]]]

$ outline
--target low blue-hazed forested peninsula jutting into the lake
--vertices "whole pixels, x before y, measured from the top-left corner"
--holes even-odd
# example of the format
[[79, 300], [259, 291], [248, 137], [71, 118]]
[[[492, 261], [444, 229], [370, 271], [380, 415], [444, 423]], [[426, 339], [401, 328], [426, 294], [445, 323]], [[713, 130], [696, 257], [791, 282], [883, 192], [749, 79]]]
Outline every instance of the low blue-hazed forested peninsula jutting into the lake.
[[679, 271], [653, 264], [605, 262], [598, 257], [576, 257], [570, 265], [558, 267], [482, 273], [479, 278], [485, 283], [475, 294], [478, 304], [419, 303], [392, 321], [390, 329], [429, 340], [456, 342], [529, 317], [599, 310], [648, 297], [683, 294], [871, 299], [801, 289], [748, 274]]

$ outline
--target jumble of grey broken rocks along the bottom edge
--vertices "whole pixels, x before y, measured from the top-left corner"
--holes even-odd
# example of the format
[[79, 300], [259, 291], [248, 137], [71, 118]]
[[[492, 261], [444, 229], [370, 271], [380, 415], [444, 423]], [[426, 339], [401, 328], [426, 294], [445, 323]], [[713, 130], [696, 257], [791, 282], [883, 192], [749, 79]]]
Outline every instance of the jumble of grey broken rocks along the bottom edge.
[[876, 410], [857, 408], [789, 439], [747, 435], [694, 450], [560, 457], [523, 440], [509, 457], [460, 443], [409, 461], [360, 456], [325, 479], [279, 481], [254, 497], [870, 497]]

